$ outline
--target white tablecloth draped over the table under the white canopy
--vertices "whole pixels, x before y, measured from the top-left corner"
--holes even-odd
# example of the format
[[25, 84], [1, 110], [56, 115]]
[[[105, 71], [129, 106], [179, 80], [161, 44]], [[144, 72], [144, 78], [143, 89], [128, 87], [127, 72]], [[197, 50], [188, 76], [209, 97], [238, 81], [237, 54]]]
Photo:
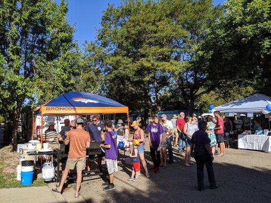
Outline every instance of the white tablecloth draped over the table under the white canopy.
[[254, 134], [239, 134], [238, 148], [271, 152], [271, 136], [256, 136]]

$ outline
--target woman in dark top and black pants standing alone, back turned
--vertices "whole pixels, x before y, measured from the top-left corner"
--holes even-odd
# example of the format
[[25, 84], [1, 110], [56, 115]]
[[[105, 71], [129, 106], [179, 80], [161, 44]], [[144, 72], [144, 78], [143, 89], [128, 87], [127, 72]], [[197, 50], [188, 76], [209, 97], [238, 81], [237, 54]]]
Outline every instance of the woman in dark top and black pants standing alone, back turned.
[[198, 177], [198, 190], [202, 191], [204, 187], [204, 164], [206, 165], [208, 180], [211, 189], [218, 188], [216, 184], [213, 160], [214, 156], [212, 148], [210, 148], [210, 139], [205, 131], [207, 129], [207, 123], [200, 121], [198, 123], [199, 130], [194, 132], [191, 139], [191, 157], [194, 157], [197, 162], [197, 177]]

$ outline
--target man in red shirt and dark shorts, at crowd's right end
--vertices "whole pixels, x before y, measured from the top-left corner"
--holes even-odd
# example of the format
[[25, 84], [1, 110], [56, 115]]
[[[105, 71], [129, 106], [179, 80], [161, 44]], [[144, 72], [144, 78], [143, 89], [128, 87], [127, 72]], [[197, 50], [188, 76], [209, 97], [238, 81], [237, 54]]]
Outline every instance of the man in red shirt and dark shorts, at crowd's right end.
[[220, 116], [219, 111], [215, 111], [214, 114], [217, 120], [215, 131], [217, 135], [217, 142], [220, 147], [220, 154], [218, 156], [225, 156], [224, 121], [223, 121], [223, 118]]

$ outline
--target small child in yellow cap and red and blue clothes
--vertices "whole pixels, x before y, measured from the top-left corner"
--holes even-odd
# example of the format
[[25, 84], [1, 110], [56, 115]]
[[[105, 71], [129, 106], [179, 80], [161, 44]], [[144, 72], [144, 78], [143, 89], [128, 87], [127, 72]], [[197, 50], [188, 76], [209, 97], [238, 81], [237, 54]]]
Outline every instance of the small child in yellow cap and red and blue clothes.
[[138, 140], [133, 140], [134, 144], [134, 149], [132, 154], [129, 156], [132, 158], [132, 165], [133, 165], [133, 171], [132, 171], [132, 176], [128, 178], [128, 181], [138, 181], [138, 174], [140, 173], [140, 159], [139, 159], [139, 154], [137, 150], [137, 146], [139, 145]]

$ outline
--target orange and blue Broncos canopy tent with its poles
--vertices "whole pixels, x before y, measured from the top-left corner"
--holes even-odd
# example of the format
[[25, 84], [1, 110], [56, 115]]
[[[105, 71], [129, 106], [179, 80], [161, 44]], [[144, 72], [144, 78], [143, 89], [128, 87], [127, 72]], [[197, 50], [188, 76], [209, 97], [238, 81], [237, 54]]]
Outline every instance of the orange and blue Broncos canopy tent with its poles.
[[43, 116], [92, 115], [126, 113], [129, 126], [128, 107], [110, 98], [87, 92], [68, 92], [61, 94], [33, 112], [32, 137], [34, 136], [35, 116], [41, 116], [41, 143]]

